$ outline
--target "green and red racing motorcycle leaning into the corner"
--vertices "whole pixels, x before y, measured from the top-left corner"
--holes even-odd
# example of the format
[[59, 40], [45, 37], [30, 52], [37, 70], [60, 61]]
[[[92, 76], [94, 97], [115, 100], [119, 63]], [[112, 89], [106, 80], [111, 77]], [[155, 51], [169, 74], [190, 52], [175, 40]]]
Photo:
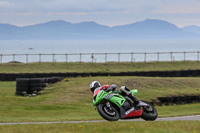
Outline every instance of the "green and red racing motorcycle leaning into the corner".
[[[137, 90], [131, 90], [133, 95]], [[128, 96], [122, 96], [118, 91], [97, 89], [93, 95], [93, 105], [99, 114], [108, 121], [118, 119], [142, 118], [147, 121], [156, 120], [158, 113], [149, 102], [142, 101], [144, 106], [137, 107]]]

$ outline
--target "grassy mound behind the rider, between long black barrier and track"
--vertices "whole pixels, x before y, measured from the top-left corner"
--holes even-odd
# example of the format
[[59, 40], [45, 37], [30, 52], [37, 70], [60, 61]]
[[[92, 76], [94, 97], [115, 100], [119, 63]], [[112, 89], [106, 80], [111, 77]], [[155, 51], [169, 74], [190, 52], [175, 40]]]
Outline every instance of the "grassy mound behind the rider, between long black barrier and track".
[[[89, 84], [126, 85], [139, 99], [200, 94], [200, 78], [79, 77], [50, 85], [36, 97], [15, 96], [15, 82], [0, 82], [0, 122], [102, 120], [92, 105]], [[200, 104], [156, 106], [159, 117], [200, 114]]]

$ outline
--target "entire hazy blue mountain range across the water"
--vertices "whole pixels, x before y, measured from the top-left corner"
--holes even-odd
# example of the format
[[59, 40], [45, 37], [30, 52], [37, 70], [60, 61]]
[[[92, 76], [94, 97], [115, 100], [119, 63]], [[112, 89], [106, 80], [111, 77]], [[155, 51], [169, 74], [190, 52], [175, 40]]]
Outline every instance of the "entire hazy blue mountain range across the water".
[[187, 27], [181, 29], [167, 21], [157, 19], [147, 19], [141, 22], [114, 27], [100, 25], [96, 22], [70, 23], [63, 20], [24, 27], [0, 24], [1, 40], [155, 39], [199, 37], [199, 32], [187, 30]]

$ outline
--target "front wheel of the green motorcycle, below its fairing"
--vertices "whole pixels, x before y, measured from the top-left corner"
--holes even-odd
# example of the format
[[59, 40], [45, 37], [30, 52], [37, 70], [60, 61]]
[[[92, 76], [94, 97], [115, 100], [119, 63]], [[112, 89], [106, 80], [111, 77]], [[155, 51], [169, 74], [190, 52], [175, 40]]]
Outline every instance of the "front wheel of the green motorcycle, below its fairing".
[[99, 104], [97, 109], [99, 114], [108, 121], [117, 121], [119, 119], [118, 111], [112, 106], [109, 108], [106, 104]]

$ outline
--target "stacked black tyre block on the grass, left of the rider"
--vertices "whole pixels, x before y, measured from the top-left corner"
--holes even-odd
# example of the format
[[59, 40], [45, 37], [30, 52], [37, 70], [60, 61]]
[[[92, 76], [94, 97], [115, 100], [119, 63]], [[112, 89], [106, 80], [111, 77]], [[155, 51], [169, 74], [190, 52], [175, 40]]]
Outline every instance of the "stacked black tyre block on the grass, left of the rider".
[[61, 81], [61, 77], [47, 78], [17, 78], [16, 79], [16, 95], [24, 96], [26, 94], [38, 94], [39, 91], [49, 84]]

